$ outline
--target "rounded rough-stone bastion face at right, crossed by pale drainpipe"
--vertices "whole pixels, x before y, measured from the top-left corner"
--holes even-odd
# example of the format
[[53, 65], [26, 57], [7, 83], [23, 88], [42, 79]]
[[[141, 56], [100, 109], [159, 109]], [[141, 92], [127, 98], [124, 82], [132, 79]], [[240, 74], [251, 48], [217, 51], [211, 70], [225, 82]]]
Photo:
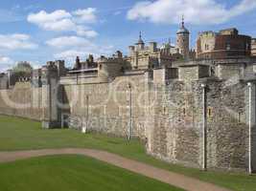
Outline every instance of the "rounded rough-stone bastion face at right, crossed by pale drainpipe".
[[[156, 88], [159, 96], [150, 114], [150, 118], [154, 120], [147, 127], [148, 152], [151, 155], [175, 163], [201, 167], [201, 83], [198, 81], [188, 85], [176, 81]], [[246, 91], [246, 83], [230, 86], [225, 81], [207, 82], [207, 168], [247, 169], [249, 128], [246, 122]], [[253, 130], [252, 139], [255, 142], [255, 128]]]

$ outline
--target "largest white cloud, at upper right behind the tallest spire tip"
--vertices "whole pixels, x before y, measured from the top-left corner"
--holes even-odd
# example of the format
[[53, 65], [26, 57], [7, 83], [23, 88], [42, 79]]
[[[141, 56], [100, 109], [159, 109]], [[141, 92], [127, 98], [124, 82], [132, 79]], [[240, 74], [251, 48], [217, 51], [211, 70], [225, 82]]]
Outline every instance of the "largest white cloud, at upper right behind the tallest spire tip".
[[216, 0], [156, 0], [136, 3], [127, 16], [129, 20], [176, 24], [184, 14], [192, 24], [220, 24], [254, 9], [255, 0], [241, 0], [230, 9]]

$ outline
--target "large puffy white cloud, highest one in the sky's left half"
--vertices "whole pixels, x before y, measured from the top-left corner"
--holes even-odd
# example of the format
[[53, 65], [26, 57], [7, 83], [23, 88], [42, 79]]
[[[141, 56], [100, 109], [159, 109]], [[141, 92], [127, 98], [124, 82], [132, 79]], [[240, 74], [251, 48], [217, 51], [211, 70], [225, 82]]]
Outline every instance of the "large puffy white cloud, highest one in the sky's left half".
[[53, 32], [76, 32], [85, 37], [95, 37], [97, 32], [84, 26], [84, 24], [95, 23], [97, 21], [96, 9], [88, 8], [68, 12], [57, 10], [53, 12], [39, 11], [28, 15], [28, 22], [33, 23], [45, 31]]

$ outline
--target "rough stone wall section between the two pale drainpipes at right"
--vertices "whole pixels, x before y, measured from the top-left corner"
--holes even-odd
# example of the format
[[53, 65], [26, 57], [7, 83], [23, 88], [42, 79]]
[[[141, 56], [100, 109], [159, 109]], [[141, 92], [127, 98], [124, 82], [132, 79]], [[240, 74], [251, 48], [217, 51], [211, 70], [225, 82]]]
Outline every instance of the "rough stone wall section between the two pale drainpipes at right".
[[246, 83], [211, 82], [207, 94], [209, 168], [243, 169], [247, 165]]

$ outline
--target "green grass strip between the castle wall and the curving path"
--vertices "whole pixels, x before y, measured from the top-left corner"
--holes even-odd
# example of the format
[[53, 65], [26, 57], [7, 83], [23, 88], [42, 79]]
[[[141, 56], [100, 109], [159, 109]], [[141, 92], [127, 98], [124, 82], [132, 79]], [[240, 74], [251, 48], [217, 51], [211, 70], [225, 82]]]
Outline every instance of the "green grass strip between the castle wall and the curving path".
[[82, 135], [78, 131], [68, 129], [42, 130], [39, 122], [15, 117], [0, 117], [0, 151], [64, 147], [101, 149], [235, 191], [256, 191], [256, 176], [202, 172], [198, 169], [169, 164], [146, 155], [144, 145], [137, 140], [128, 142], [124, 138]]

